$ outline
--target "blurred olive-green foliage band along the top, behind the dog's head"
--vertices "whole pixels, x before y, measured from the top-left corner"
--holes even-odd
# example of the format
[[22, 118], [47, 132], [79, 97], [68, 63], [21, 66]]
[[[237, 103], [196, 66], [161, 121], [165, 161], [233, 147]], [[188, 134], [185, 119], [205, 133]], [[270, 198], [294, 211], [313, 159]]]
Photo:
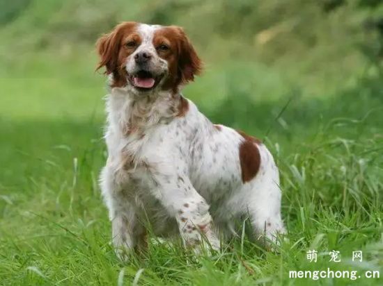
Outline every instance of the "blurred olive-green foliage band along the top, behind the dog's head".
[[313, 93], [350, 84], [370, 67], [373, 74], [382, 69], [382, 1], [14, 0], [1, 5], [5, 60], [32, 50], [89, 49], [118, 22], [134, 20], [184, 26], [205, 62], [276, 66]]

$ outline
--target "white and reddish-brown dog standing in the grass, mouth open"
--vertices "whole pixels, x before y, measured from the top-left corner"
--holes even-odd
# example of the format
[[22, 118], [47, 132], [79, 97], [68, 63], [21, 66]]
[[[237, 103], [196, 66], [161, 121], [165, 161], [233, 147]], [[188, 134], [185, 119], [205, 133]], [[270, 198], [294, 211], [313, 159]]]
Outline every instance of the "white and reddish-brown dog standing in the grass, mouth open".
[[178, 230], [185, 245], [205, 238], [213, 249], [218, 233], [233, 233], [248, 215], [256, 237], [284, 233], [279, 172], [266, 146], [212, 124], [180, 94], [201, 72], [182, 28], [124, 22], [97, 51], [110, 87], [100, 181], [117, 249], [145, 243], [143, 221], [156, 235]]

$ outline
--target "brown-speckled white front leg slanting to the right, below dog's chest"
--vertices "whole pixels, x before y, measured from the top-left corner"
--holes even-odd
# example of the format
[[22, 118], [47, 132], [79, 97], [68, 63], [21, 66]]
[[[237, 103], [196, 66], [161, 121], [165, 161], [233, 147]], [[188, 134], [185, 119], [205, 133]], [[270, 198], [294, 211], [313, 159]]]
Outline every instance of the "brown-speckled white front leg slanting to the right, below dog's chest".
[[[219, 239], [212, 224], [209, 205], [194, 189], [187, 176], [177, 175], [160, 178], [157, 198], [172, 217], [175, 217], [185, 246], [198, 252], [201, 244], [219, 249]], [[209, 245], [210, 244], [210, 245]]]

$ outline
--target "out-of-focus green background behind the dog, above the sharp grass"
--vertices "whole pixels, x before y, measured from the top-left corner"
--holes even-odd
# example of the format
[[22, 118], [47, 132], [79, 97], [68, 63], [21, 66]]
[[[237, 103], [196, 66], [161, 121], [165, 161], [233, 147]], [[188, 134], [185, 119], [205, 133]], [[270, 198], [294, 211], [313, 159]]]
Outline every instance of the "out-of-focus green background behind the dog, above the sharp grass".
[[301, 142], [331, 117], [360, 119], [382, 103], [382, 10], [373, 0], [1, 1], [3, 185], [38, 171], [25, 156], [100, 141], [94, 44], [118, 22], [185, 27], [205, 62], [186, 96], [213, 121]]

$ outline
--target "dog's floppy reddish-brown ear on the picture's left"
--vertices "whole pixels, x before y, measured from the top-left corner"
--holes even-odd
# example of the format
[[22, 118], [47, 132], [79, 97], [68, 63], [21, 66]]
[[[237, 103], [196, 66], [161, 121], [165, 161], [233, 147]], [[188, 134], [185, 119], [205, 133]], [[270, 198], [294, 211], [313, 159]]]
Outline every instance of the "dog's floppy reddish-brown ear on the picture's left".
[[118, 44], [119, 41], [116, 30], [109, 34], [103, 35], [97, 40], [96, 48], [100, 56], [100, 62], [98, 62], [96, 70], [105, 66], [107, 68], [105, 73], [111, 74], [117, 69]]

